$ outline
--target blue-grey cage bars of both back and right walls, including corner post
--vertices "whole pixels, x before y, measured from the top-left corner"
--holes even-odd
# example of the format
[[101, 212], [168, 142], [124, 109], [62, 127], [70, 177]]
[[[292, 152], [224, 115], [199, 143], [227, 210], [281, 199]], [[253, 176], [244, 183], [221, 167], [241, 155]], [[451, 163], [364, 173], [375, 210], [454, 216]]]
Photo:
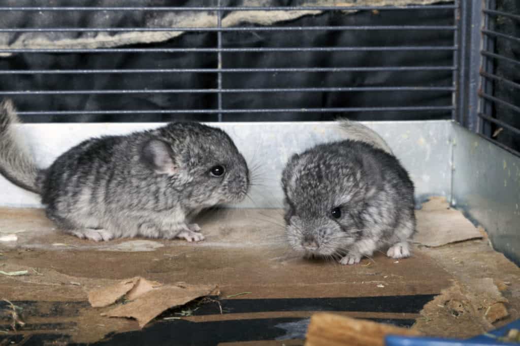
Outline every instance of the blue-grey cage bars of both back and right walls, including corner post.
[[[520, 90], [520, 84], [514, 78], [496, 73], [497, 63], [507, 63], [513, 67], [520, 65], [520, 61], [513, 56], [506, 56], [497, 52], [497, 40], [510, 41], [513, 45], [520, 44], [520, 37], [515, 34], [501, 32], [496, 29], [498, 18], [507, 18], [516, 23], [520, 22], [520, 15], [504, 12], [496, 9], [497, 0], [485, 0], [483, 4], [479, 2], [454, 1], [452, 3], [437, 3], [433, 5], [409, 5], [409, 6], [225, 6], [223, 0], [215, 0], [213, 6], [168, 6], [168, 7], [147, 7], [147, 6], [126, 6], [126, 7], [0, 7], [0, 13], [15, 11], [16, 13], [27, 13], [31, 16], [36, 12], [118, 12], [118, 11], [143, 11], [143, 12], [211, 12], [215, 15], [214, 26], [210, 27], [0, 27], [0, 34], [22, 34], [22, 33], [127, 33], [127, 32], [185, 32], [185, 33], [215, 33], [216, 39], [214, 46], [204, 47], [113, 47], [113, 48], [14, 48], [0, 49], [0, 54], [37, 54], [37, 53], [99, 53], [110, 56], [110, 53], [172, 53], [172, 54], [216, 54], [215, 66], [210, 67], [168, 67], [150, 66], [149, 68], [21, 68], [0, 70], [2, 78], [23, 75], [146, 75], [151, 74], [206, 74], [214, 76], [213, 87], [205, 88], [148, 88], [141, 86], [138, 88], [107, 88], [107, 89], [75, 89], [73, 87], [59, 87], [51, 90], [25, 89], [0, 89], [0, 96], [20, 96], [31, 97], [33, 95], [47, 95], [50, 97], [60, 95], [137, 95], [137, 94], [175, 94], [175, 95], [194, 95], [212, 94], [216, 95], [217, 102], [214, 107], [202, 107], [200, 109], [21, 109], [21, 115], [27, 116], [75, 116], [85, 114], [98, 115], [125, 115], [125, 114], [167, 114], [175, 118], [178, 114], [211, 114], [216, 116], [216, 120], [225, 121], [226, 114], [258, 114], [258, 119], [262, 120], [263, 114], [281, 113], [349, 113], [361, 112], [363, 114], [384, 112], [449, 112], [451, 118], [461, 123], [466, 128], [475, 131], [486, 139], [504, 147], [504, 144], [496, 140], [496, 131], [509, 131], [515, 136], [520, 135], [520, 129], [516, 122], [509, 121], [508, 118], [500, 117], [497, 114], [497, 105], [500, 109], [508, 109], [511, 112], [520, 113], [520, 105], [515, 100], [508, 100], [493, 90], [497, 83], [509, 87], [515, 91]], [[415, 11], [452, 11], [453, 20], [448, 25], [318, 25], [301, 26], [289, 23], [289, 25], [235, 25], [223, 26], [223, 18], [230, 11], [394, 11], [406, 10], [411, 14]], [[23, 25], [22, 25], [23, 26]], [[388, 46], [306, 46], [306, 47], [226, 47], [223, 40], [224, 34], [240, 32], [387, 32], [388, 35], [398, 35], [407, 31], [415, 32], [449, 32], [453, 34], [451, 45], [432, 45], [427, 40], [421, 45], [388, 45]], [[481, 36], [482, 35], [482, 36]], [[331, 52], [331, 53], [356, 53], [371, 52], [378, 54], [391, 54], [392, 52], [433, 52], [446, 51], [452, 54], [452, 64], [424, 64], [421, 66], [413, 64], [393, 64], [380, 66], [263, 66], [263, 67], [233, 67], [230, 59], [232, 53], [298, 53], [298, 52]], [[348, 56], [346, 56], [348, 57]], [[233, 78], [233, 74], [305, 74], [305, 73], [389, 73], [389, 72], [424, 72], [439, 71], [451, 72], [452, 80], [449, 85], [395, 85], [385, 86], [270, 86], [256, 88], [229, 88], [225, 87], [223, 81]], [[170, 77], [168, 77], [170, 78]], [[251, 107], [233, 108], [226, 107], [226, 98], [236, 94], [265, 94], [265, 93], [378, 93], [378, 92], [402, 92], [402, 93], [422, 93], [427, 97], [428, 92], [451, 93], [452, 100], [446, 105], [407, 105], [405, 102], [398, 106], [370, 105], [370, 106], [330, 106], [330, 107], [306, 107], [300, 104], [291, 104], [290, 107]], [[506, 146], [506, 149], [511, 149]], [[517, 154], [517, 153], [516, 153]]]

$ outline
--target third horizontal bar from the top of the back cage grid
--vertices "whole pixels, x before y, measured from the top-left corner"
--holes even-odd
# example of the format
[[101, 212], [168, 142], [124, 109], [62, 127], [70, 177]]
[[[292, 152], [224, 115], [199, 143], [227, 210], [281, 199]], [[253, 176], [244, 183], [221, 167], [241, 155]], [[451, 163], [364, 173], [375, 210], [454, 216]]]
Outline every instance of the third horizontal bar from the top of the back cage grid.
[[388, 47], [284, 47], [284, 48], [21, 48], [0, 49], [0, 53], [264, 53], [330, 51], [457, 50], [457, 46], [388, 46]]

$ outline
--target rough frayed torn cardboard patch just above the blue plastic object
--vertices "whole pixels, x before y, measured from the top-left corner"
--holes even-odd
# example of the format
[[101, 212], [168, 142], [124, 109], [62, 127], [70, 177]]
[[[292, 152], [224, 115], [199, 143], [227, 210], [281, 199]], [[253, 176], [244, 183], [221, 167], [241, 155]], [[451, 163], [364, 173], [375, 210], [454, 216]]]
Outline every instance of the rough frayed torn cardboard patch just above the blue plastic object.
[[454, 282], [424, 306], [413, 329], [427, 330], [437, 337], [472, 337], [495, 328], [492, 323], [509, 316], [506, 303], [508, 299], [493, 279]]

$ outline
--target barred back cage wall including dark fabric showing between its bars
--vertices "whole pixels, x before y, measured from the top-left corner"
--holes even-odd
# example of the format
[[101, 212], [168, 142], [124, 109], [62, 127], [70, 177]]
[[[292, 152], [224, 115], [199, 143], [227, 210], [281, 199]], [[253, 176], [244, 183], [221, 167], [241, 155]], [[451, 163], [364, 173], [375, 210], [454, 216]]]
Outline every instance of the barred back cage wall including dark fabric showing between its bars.
[[386, 3], [10, 0], [0, 95], [26, 122], [451, 118], [459, 4]]

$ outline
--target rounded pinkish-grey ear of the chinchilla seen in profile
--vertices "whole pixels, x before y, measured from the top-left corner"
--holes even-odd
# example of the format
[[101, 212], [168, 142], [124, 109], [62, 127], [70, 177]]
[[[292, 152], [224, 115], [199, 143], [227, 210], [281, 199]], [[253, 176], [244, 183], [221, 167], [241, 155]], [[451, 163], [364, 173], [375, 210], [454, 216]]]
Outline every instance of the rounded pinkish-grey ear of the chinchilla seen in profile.
[[178, 167], [173, 159], [170, 145], [153, 139], [145, 143], [141, 149], [141, 160], [158, 174], [177, 174]]

